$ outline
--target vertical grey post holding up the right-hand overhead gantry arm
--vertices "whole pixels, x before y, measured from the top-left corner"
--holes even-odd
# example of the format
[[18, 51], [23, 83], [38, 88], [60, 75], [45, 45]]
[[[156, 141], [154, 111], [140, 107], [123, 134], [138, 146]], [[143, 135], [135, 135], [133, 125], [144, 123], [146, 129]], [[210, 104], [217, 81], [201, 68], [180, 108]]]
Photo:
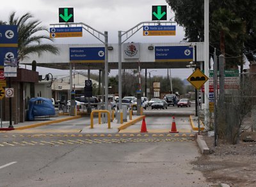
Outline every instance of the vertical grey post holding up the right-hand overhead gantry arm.
[[[118, 31], [118, 96], [122, 100], [122, 31]], [[121, 110], [122, 102], [118, 102], [118, 108]]]

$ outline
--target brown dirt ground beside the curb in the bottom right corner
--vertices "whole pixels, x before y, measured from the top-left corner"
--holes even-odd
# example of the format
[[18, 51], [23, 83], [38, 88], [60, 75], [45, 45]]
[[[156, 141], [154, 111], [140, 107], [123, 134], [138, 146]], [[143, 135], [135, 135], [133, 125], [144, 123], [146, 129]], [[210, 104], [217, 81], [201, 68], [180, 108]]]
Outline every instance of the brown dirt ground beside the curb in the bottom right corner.
[[210, 154], [202, 155], [193, 164], [207, 181], [230, 186], [256, 186], [256, 132], [244, 132], [239, 144], [232, 145], [219, 139], [214, 147], [214, 137], [202, 133]]

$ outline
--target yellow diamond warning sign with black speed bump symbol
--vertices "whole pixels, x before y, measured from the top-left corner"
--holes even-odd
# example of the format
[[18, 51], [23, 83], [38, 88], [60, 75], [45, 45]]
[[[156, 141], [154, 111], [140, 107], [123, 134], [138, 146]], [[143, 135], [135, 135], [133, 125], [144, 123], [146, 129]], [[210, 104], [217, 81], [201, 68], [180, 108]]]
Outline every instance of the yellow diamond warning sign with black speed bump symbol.
[[208, 80], [208, 77], [204, 75], [202, 71], [196, 69], [189, 77], [188, 82], [190, 82], [196, 89], [200, 89], [205, 82]]

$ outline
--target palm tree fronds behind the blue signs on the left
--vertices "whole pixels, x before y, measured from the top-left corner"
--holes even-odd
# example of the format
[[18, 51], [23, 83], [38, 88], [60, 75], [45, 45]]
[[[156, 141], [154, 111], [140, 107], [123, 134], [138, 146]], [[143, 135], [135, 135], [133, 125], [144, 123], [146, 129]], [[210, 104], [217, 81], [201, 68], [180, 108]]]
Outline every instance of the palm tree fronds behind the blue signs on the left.
[[[42, 52], [51, 52], [52, 54], [58, 54], [58, 47], [50, 43], [42, 43], [42, 40], [53, 41], [49, 37], [49, 31], [47, 27], [40, 26], [42, 22], [39, 20], [31, 20], [33, 15], [31, 13], [25, 13], [21, 17], [15, 17], [15, 11], [10, 14], [8, 22], [0, 20], [0, 25], [17, 25], [18, 26], [18, 57], [17, 61], [28, 57], [28, 54], [38, 54], [40, 56]], [[47, 31], [48, 35], [42, 31]]]

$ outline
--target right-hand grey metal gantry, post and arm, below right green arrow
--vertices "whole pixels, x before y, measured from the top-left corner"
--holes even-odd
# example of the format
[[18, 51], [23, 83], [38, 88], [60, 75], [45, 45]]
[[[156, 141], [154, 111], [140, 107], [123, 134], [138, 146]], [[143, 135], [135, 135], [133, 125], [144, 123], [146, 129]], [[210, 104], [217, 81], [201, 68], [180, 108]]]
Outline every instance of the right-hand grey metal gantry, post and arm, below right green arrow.
[[[137, 33], [143, 26], [160, 26], [161, 24], [174, 24], [175, 22], [160, 22], [160, 21], [147, 21], [140, 22], [136, 26], [132, 27], [128, 31], [118, 31], [118, 95], [122, 99], [122, 43], [127, 41], [131, 36]], [[122, 41], [122, 37], [125, 37]], [[122, 108], [122, 103], [118, 103], [118, 107]]]

